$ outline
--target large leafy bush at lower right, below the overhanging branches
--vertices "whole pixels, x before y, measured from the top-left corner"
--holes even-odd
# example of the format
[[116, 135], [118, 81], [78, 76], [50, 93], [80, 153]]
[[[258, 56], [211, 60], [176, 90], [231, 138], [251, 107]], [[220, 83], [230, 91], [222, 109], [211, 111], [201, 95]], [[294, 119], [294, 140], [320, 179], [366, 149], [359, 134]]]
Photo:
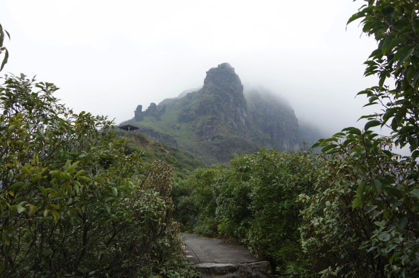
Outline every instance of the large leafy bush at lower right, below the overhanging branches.
[[[391, 154], [389, 138], [376, 137], [353, 128], [330, 138], [316, 193], [300, 196], [309, 205], [300, 231], [313, 274], [385, 277], [395, 270], [407, 275], [418, 263], [416, 222], [406, 217], [417, 210], [413, 184], [405, 183], [409, 165]], [[403, 258], [406, 254], [413, 256]], [[385, 268], [389, 262], [392, 267]]]

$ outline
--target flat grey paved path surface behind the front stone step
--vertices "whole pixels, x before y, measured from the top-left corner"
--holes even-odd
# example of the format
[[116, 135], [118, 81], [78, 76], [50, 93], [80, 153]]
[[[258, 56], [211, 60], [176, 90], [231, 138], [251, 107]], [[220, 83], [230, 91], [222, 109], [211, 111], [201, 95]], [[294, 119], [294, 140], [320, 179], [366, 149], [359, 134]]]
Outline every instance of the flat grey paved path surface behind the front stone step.
[[183, 233], [185, 254], [193, 263], [254, 263], [258, 261], [250, 251], [240, 245], [222, 240]]

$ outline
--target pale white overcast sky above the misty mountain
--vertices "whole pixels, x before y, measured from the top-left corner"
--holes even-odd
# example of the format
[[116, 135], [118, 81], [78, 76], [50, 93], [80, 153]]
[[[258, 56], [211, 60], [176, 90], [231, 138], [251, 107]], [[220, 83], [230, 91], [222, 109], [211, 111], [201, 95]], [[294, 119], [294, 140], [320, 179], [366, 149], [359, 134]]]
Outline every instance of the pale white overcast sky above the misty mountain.
[[[37, 75], [75, 111], [119, 123], [230, 63], [244, 86], [289, 100], [300, 119], [357, 125], [374, 85], [362, 63], [376, 47], [348, 18], [364, 1], [1, 0], [10, 32], [2, 73]], [[358, 124], [358, 126], [360, 126]]]

